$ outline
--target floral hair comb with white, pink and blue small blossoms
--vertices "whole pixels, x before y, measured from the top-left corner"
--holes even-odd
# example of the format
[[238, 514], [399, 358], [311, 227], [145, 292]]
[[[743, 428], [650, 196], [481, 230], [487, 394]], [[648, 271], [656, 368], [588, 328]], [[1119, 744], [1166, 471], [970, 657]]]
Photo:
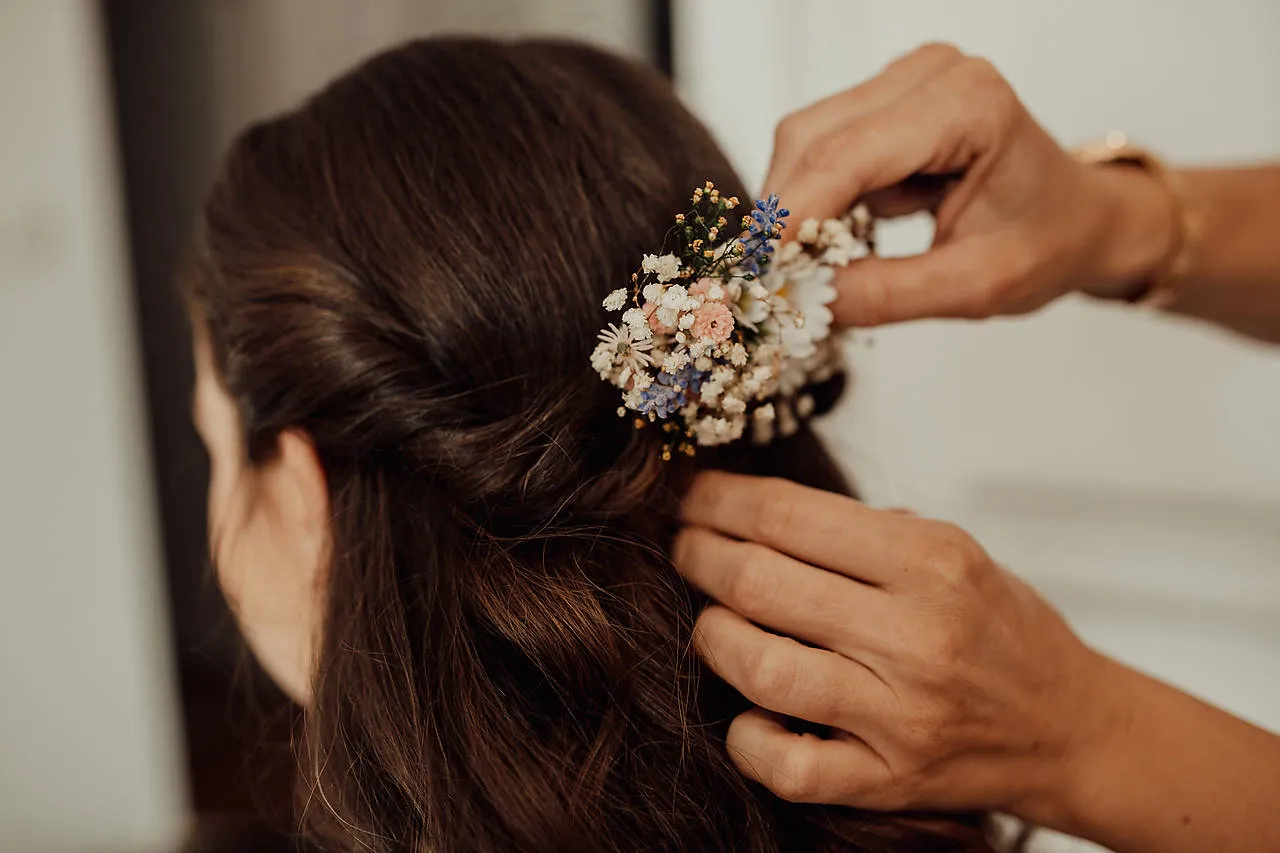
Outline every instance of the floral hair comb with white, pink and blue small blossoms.
[[737, 441], [748, 426], [762, 444], [788, 435], [813, 411], [805, 387], [842, 369], [831, 279], [874, 248], [867, 209], [806, 219], [782, 246], [790, 211], [776, 195], [733, 232], [737, 204], [710, 181], [694, 190], [660, 254], [604, 300], [622, 318], [600, 332], [591, 366], [622, 391], [620, 416], [634, 412], [637, 428], [660, 421], [663, 459]]

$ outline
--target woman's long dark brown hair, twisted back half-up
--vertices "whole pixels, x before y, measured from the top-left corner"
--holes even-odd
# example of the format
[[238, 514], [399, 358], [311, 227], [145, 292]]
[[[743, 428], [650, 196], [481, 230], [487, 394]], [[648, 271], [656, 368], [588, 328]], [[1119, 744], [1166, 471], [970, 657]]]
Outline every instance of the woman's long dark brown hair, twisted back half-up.
[[326, 849], [988, 849], [978, 817], [786, 803], [724, 753], [746, 706], [690, 648], [678, 497], [709, 464], [847, 487], [808, 429], [663, 464], [589, 366], [707, 179], [746, 197], [659, 74], [549, 42], [406, 45], [228, 155], [187, 288], [248, 461], [302, 428], [326, 474], [300, 762]]

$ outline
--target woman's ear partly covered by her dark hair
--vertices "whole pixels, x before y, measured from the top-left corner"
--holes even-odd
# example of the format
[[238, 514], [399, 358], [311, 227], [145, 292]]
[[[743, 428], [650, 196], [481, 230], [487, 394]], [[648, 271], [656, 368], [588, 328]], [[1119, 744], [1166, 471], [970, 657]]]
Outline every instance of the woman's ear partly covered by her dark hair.
[[259, 500], [274, 517], [289, 565], [317, 590], [329, 553], [329, 489], [311, 437], [301, 429], [280, 433], [275, 455], [257, 471]]

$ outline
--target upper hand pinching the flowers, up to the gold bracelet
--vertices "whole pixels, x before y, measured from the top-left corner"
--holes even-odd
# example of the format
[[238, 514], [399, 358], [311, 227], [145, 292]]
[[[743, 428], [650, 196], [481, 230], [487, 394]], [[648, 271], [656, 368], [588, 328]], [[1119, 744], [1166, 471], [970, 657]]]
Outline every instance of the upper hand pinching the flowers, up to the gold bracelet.
[[785, 118], [764, 190], [792, 222], [858, 200], [878, 216], [934, 214], [929, 251], [838, 273], [846, 325], [1023, 314], [1073, 289], [1123, 297], [1174, 240], [1156, 179], [1082, 165], [991, 63], [947, 45]]

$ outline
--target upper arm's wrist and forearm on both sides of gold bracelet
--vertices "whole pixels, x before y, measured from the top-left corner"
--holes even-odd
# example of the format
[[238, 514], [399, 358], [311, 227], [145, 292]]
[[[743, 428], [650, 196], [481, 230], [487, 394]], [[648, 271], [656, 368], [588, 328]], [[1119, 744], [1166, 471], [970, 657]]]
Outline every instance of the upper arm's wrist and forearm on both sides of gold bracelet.
[[[1167, 255], [1174, 216], [1166, 188], [1139, 169], [1098, 169], [1103, 199], [1097, 296], [1120, 297]], [[1170, 311], [1280, 343], [1280, 167], [1176, 173], [1199, 232], [1194, 266]]]

